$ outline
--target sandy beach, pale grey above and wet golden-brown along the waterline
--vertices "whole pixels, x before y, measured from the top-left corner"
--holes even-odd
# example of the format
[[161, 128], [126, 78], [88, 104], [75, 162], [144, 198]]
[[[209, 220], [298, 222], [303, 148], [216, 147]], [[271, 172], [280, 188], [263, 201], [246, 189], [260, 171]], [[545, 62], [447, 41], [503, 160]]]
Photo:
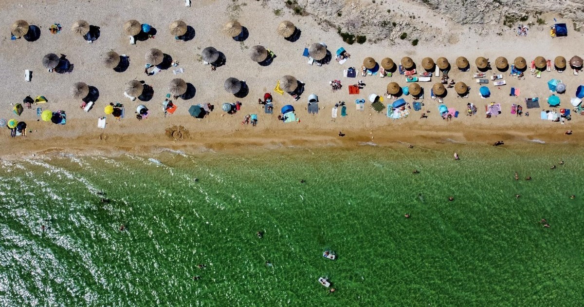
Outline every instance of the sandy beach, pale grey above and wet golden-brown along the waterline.
[[[480, 27], [461, 26], [449, 22], [447, 18], [435, 16], [433, 13], [419, 8], [419, 14], [427, 23], [442, 33], [450, 33], [450, 43], [434, 46], [432, 40], [423, 40], [416, 47], [409, 43], [365, 43], [352, 46], [343, 43], [334, 29], [317, 23], [311, 16], [291, 15], [289, 9], [283, 9], [281, 16], [275, 16], [273, 8], [262, 6], [259, 1], [193, 1], [190, 8], [185, 8], [184, 1], [4, 1], [0, 4], [2, 21], [0, 27], [5, 29], [5, 35], [0, 44], [0, 65], [4, 74], [0, 75], [2, 84], [2, 101], [0, 102], [0, 117], [14, 118], [11, 104], [21, 102], [26, 95], [44, 95], [48, 103], [39, 105], [43, 109], [67, 111], [67, 125], [54, 125], [50, 122], [37, 121], [33, 109], [25, 109], [18, 118], [27, 122], [33, 132], [27, 137], [9, 137], [8, 129], [5, 137], [0, 139], [0, 154], [11, 154], [18, 157], [40, 151], [148, 151], [152, 148], [168, 147], [182, 150], [226, 150], [246, 149], [248, 146], [266, 148], [285, 146], [356, 146], [363, 142], [376, 144], [413, 143], [425, 146], [438, 146], [443, 143], [469, 142], [491, 143], [505, 140], [507, 143], [542, 140], [547, 143], [581, 143], [579, 127], [582, 125], [580, 116], [565, 125], [552, 123], [539, 118], [540, 109], [527, 110], [523, 98], [539, 96], [541, 106], [545, 109], [545, 98], [550, 95], [547, 81], [558, 78], [567, 85], [567, 93], [560, 95], [562, 106], [571, 108], [569, 98], [576, 87], [582, 84], [584, 73], [572, 75], [570, 71], [559, 74], [555, 71], [544, 72], [537, 79], [526, 73], [525, 80], [516, 80], [505, 74], [507, 85], [496, 88], [489, 85], [492, 91], [490, 99], [478, 96], [478, 86], [472, 79], [475, 70], [474, 59], [485, 56], [494, 62], [498, 56], [505, 56], [510, 62], [516, 56], [525, 57], [528, 62], [536, 56], [544, 56], [553, 60], [562, 55], [566, 59], [578, 54], [582, 42], [582, 34], [569, 31], [569, 36], [561, 39], [551, 39], [548, 27], [532, 27], [527, 37], [516, 37], [512, 31], [498, 35], [502, 26]], [[249, 30], [245, 42], [235, 42], [231, 37], [225, 37], [221, 28], [231, 18], [239, 20]], [[547, 16], [551, 19], [552, 16]], [[24, 39], [11, 41], [9, 27], [17, 19], [25, 19], [31, 25], [41, 27], [41, 37], [36, 42], [26, 42]], [[75, 36], [70, 31], [71, 24], [77, 19], [85, 19], [91, 25], [99, 26], [101, 35], [93, 44], [86, 43], [82, 37]], [[154, 39], [137, 42], [134, 46], [128, 44], [128, 37], [123, 34], [122, 26], [128, 19], [137, 19], [142, 23], [154, 26], [158, 33]], [[176, 19], [185, 20], [196, 31], [196, 36], [189, 42], [176, 42], [169, 34], [169, 24]], [[275, 33], [277, 25], [282, 20], [291, 20], [302, 31], [297, 42], [291, 43]], [[58, 22], [63, 26], [61, 33], [51, 35], [48, 26]], [[492, 28], [492, 29], [491, 29]], [[370, 38], [371, 39], [371, 38]], [[332, 61], [329, 65], [307, 65], [307, 58], [302, 56], [304, 47], [314, 42], [325, 42], [334, 54], [340, 46], [344, 46], [352, 57], [343, 65]], [[256, 44], [271, 49], [276, 54], [273, 63], [262, 67], [249, 59], [249, 48]], [[207, 46], [214, 46], [227, 58], [227, 64], [211, 71], [208, 65], [200, 61], [200, 52]], [[150, 48], [156, 47], [179, 61], [179, 67], [185, 68], [185, 73], [173, 75], [171, 70], [147, 77], [144, 74], [144, 54]], [[114, 50], [119, 54], [127, 54], [131, 64], [124, 73], [116, 73], [101, 64], [102, 54]], [[70, 74], [47, 73], [41, 64], [44, 54], [66, 54], [75, 65]], [[446, 122], [437, 114], [437, 102], [429, 99], [429, 90], [434, 82], [421, 85], [426, 89], [425, 109], [429, 109], [429, 118], [419, 119], [421, 112], [411, 112], [409, 118], [392, 120], [385, 112], [376, 113], [369, 109], [355, 111], [354, 101], [366, 98], [370, 93], [383, 94], [388, 82], [395, 81], [405, 86], [403, 75], [392, 78], [357, 77], [343, 78], [342, 71], [347, 67], [361, 66], [363, 58], [371, 56], [377, 61], [391, 57], [398, 62], [403, 56], [411, 56], [420, 65], [423, 57], [447, 57], [450, 63], [458, 56], [465, 56], [471, 62], [471, 71], [460, 73], [456, 69], [450, 75], [456, 81], [464, 81], [471, 87], [470, 98], [458, 98], [450, 89], [450, 94], [444, 99], [449, 107], [460, 111], [461, 116], [452, 122]], [[493, 63], [494, 67], [494, 63]], [[24, 70], [33, 71], [32, 82], [25, 82]], [[282, 75], [294, 75], [305, 82], [305, 93], [300, 101], [294, 102], [287, 94], [283, 96], [273, 91], [276, 81]], [[196, 95], [188, 101], [178, 99], [178, 111], [164, 117], [161, 102], [168, 92], [168, 83], [175, 77], [183, 78], [194, 85]], [[245, 98], [235, 98], [223, 89], [224, 80], [236, 77], [245, 80], [249, 86], [249, 94]], [[131, 102], [123, 96], [126, 82], [144, 80], [154, 87], [154, 98], [151, 101]], [[343, 88], [332, 92], [328, 82], [340, 79]], [[366, 82], [361, 95], [348, 95], [347, 86], [357, 80]], [[436, 78], [433, 78], [435, 81]], [[86, 113], [79, 108], [81, 101], [69, 95], [69, 88], [74, 82], [83, 81], [99, 89], [99, 99], [92, 111]], [[510, 97], [510, 87], [521, 89], [519, 98]], [[265, 92], [272, 92], [275, 101], [273, 115], [263, 114], [257, 103]], [[319, 96], [321, 110], [318, 115], [308, 115], [305, 111], [306, 99], [309, 94]], [[405, 97], [412, 102], [411, 96]], [[221, 111], [223, 102], [242, 102], [242, 109], [235, 115], [225, 115]], [[339, 101], [347, 102], [348, 116], [336, 120], [331, 118], [331, 108]], [[503, 113], [496, 118], [486, 119], [484, 105], [491, 101], [503, 106]], [[103, 116], [103, 108], [110, 102], [121, 102], [126, 106], [126, 118], [121, 121], [107, 118], [107, 128], [99, 129], [96, 125], [99, 116]], [[215, 111], [207, 118], [197, 120], [191, 118], [187, 110], [193, 104], [211, 103]], [[387, 101], [386, 101], [387, 102]], [[478, 116], [464, 116], [465, 105], [473, 102], [478, 106]], [[530, 111], [531, 116], [516, 118], [510, 114], [511, 104], [522, 104], [524, 112]], [[151, 109], [150, 118], [138, 121], [134, 117], [135, 106], [145, 104]], [[292, 104], [297, 110], [300, 123], [283, 124], [276, 119], [281, 106]], [[367, 107], [369, 107], [367, 103]], [[241, 121], [248, 113], [258, 113], [258, 126], [242, 126]], [[167, 127], [185, 126], [189, 137], [175, 142], [165, 136]], [[565, 130], [574, 131], [572, 136], [564, 136]], [[339, 130], [347, 135], [337, 136]], [[401, 146], [401, 145], [399, 145]]]

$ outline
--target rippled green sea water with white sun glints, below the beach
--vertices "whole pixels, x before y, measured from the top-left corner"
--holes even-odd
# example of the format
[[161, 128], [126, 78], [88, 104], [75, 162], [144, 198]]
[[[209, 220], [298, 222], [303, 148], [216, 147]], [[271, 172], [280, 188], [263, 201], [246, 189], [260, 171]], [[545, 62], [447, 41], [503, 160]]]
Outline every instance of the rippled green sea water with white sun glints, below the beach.
[[578, 149], [453, 147], [2, 161], [0, 304], [582, 305]]

